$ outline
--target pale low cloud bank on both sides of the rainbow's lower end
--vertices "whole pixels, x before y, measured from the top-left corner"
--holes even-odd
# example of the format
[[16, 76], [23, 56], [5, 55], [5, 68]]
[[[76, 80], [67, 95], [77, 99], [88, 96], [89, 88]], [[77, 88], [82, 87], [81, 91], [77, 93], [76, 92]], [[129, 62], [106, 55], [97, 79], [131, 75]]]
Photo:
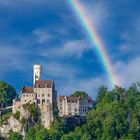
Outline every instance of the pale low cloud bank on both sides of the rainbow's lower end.
[[[140, 57], [129, 60], [128, 62], [119, 61], [114, 65], [116, 75], [119, 78], [120, 86], [128, 88], [134, 82], [140, 81]], [[70, 95], [76, 90], [87, 92], [94, 99], [98, 94], [101, 85], [109, 88], [110, 85], [106, 76], [99, 76], [87, 79], [70, 78], [65, 85], [60, 85], [59, 95]]]

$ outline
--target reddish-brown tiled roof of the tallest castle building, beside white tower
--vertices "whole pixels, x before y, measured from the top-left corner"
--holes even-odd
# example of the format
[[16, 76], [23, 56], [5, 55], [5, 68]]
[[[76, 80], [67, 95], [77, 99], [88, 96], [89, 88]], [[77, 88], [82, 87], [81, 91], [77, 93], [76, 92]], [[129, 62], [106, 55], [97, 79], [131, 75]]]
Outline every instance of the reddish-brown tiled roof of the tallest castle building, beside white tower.
[[35, 82], [35, 88], [52, 88], [52, 80], [37, 80]]

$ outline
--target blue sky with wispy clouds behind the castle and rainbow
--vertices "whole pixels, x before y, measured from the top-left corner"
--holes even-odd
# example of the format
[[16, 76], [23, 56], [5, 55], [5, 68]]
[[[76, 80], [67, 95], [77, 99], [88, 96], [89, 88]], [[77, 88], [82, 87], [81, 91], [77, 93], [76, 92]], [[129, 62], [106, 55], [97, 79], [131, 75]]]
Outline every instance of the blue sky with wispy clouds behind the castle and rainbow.
[[[106, 44], [122, 86], [140, 79], [139, 0], [81, 0]], [[64, 0], [0, 0], [0, 80], [19, 91], [32, 85], [33, 64], [58, 95], [84, 90], [93, 98], [108, 76], [86, 33]]]

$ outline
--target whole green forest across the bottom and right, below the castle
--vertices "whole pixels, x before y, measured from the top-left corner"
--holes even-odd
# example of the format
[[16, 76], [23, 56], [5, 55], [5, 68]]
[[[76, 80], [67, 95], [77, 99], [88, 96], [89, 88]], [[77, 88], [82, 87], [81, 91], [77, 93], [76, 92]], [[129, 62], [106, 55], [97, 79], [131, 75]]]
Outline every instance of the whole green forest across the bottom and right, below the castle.
[[[12, 130], [9, 132], [9, 140], [22, 139], [20, 133]], [[63, 118], [56, 116], [50, 129], [43, 128], [37, 123], [27, 130], [24, 139], [139, 140], [140, 84], [134, 83], [128, 89], [115, 86], [111, 91], [101, 86], [95, 107], [88, 113], [84, 124], [66, 124]]]

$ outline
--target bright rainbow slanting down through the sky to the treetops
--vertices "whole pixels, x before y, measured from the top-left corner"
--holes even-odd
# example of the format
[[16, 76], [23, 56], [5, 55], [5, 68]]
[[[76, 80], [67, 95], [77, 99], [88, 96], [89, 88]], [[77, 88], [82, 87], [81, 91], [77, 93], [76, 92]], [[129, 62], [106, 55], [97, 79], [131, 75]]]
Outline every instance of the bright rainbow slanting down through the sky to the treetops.
[[102, 39], [96, 31], [95, 26], [88, 18], [86, 14], [86, 10], [79, 0], [68, 0], [70, 7], [78, 17], [81, 25], [85, 29], [88, 38], [90, 39], [94, 49], [96, 50], [97, 55], [101, 59], [102, 65], [104, 66], [105, 71], [108, 74], [111, 87], [114, 85], [119, 85], [117, 76], [114, 73], [113, 66], [111, 64], [110, 57], [105, 49], [105, 45], [103, 44]]

